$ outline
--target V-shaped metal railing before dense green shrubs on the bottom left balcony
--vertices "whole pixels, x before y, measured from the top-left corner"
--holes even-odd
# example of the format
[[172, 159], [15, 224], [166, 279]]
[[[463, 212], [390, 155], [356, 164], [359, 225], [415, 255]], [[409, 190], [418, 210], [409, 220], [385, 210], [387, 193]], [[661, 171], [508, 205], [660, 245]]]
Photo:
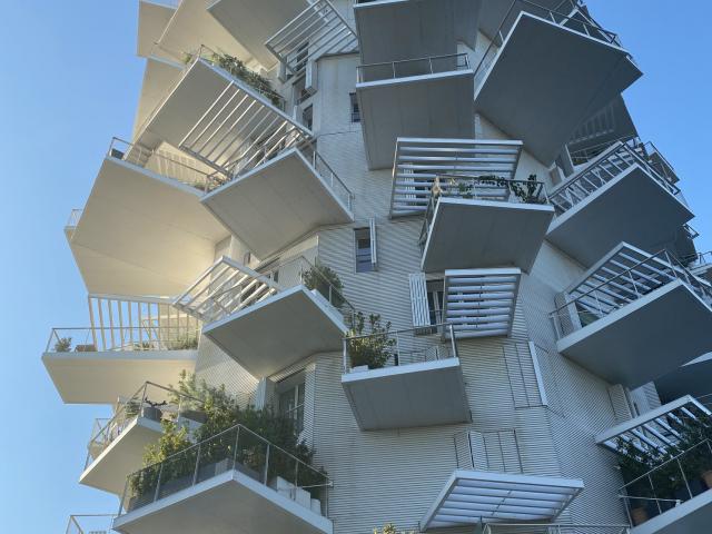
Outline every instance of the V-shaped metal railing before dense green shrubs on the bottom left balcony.
[[119, 516], [230, 471], [328, 517], [329, 477], [243, 425], [129, 475]]

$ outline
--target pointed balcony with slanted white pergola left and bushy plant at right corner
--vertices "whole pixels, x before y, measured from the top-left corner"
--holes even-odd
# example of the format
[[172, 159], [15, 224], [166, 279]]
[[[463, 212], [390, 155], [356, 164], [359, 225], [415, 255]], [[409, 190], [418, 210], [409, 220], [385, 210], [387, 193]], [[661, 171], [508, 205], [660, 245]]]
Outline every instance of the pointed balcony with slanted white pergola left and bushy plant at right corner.
[[257, 377], [338, 352], [353, 307], [304, 256], [257, 270], [222, 257], [176, 300], [204, 335]]

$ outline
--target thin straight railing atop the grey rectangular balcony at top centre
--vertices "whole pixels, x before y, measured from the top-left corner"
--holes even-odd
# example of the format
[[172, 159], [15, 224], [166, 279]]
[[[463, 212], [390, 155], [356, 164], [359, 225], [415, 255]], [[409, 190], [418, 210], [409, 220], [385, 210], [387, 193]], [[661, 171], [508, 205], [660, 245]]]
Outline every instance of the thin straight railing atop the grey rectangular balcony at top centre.
[[356, 81], [357, 83], [366, 83], [411, 76], [442, 75], [468, 69], [469, 58], [466, 53], [451, 53], [429, 58], [359, 65], [356, 69]]

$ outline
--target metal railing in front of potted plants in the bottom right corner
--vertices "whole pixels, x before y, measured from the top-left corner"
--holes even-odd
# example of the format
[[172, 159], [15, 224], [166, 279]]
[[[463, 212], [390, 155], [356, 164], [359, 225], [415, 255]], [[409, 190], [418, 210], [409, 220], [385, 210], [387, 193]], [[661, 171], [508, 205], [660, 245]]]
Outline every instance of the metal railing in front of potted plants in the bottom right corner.
[[673, 456], [619, 491], [633, 526], [712, 488], [712, 444], [705, 439]]

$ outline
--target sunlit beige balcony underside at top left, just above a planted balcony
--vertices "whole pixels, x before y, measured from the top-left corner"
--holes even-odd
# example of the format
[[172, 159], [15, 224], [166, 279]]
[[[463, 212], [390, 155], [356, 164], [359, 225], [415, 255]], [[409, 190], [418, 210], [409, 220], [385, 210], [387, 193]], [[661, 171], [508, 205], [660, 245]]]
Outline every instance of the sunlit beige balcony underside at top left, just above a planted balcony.
[[158, 43], [160, 50], [174, 60], [185, 60], [201, 44], [234, 56], [245, 62], [251, 55], [206, 9], [206, 0], [180, 0]]

